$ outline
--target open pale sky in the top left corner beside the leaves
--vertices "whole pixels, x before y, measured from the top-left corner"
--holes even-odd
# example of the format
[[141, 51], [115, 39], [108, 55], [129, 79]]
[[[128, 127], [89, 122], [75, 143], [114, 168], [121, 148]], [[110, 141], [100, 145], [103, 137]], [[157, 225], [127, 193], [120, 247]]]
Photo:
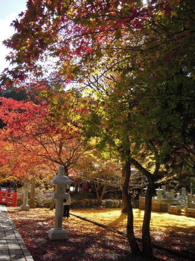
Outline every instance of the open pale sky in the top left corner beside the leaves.
[[2, 41], [14, 33], [14, 28], [10, 24], [26, 9], [25, 7], [26, 0], [0, 0], [0, 72], [9, 65], [4, 59], [9, 49], [2, 45]]

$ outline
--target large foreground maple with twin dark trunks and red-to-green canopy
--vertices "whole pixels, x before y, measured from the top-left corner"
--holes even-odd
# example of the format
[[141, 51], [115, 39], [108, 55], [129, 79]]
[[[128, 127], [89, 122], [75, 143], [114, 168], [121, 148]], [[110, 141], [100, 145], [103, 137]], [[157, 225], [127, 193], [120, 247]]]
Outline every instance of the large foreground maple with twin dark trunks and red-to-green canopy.
[[[95, 90], [95, 98], [88, 103], [92, 106], [85, 133], [87, 138], [98, 137], [102, 147], [109, 144], [125, 162], [128, 239], [134, 253], [140, 250], [129, 203], [131, 164], [148, 178], [142, 239], [143, 252], [152, 255], [151, 200], [160, 164], [172, 162], [170, 155], [176, 153], [193, 165], [194, 110], [189, 100], [194, 95], [193, 1], [153, 0], [144, 5], [131, 0], [28, 0], [27, 11], [20, 17], [13, 22], [16, 34], [4, 42], [13, 49], [7, 59], [16, 66], [1, 75], [3, 86], [23, 81], [29, 71], [39, 77], [50, 55], [57, 59], [62, 81]], [[117, 81], [111, 71], [118, 74]], [[102, 82], [102, 77], [108, 81]], [[140, 164], [141, 155], [152, 159], [152, 167]]]

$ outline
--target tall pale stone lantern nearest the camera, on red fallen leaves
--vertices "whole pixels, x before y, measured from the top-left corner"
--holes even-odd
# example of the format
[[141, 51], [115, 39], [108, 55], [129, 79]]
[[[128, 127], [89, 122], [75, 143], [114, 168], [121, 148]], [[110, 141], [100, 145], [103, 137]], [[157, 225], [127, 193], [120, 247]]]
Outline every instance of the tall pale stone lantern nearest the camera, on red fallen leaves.
[[64, 176], [64, 167], [59, 166], [58, 175], [50, 180], [50, 183], [56, 185], [56, 192], [52, 193], [52, 197], [56, 200], [56, 211], [55, 225], [48, 231], [48, 237], [50, 239], [68, 239], [68, 232], [62, 228], [63, 200], [68, 198], [68, 194], [65, 192], [67, 185], [70, 185], [72, 181]]

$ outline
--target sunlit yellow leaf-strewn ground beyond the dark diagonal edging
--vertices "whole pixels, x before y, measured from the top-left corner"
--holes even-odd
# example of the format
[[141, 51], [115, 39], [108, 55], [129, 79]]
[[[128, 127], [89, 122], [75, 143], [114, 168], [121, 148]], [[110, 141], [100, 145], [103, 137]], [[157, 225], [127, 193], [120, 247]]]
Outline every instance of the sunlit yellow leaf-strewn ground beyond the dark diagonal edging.
[[[92, 219], [126, 232], [127, 214], [122, 214], [120, 209], [84, 209], [72, 210], [72, 213]], [[141, 237], [141, 226], [144, 211], [134, 209], [135, 235]], [[166, 241], [168, 246], [175, 249], [190, 248], [195, 250], [195, 218], [168, 213], [152, 212], [151, 235], [154, 241]]]

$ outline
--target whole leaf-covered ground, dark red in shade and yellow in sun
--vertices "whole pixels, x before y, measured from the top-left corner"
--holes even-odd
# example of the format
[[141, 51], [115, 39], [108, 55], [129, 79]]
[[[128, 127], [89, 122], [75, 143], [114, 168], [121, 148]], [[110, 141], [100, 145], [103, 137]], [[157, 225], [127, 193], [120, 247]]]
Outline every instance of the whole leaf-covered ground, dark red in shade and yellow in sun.
[[[129, 245], [124, 236], [71, 216], [63, 221], [63, 228], [68, 231], [69, 239], [52, 241], [47, 235], [48, 230], [54, 227], [54, 211], [37, 208], [29, 212], [20, 212], [19, 207], [9, 207], [8, 210], [35, 261], [127, 260]], [[72, 213], [125, 232], [126, 215], [121, 214], [119, 209], [82, 209], [73, 210]], [[136, 236], [140, 237], [143, 211], [134, 210], [134, 214]], [[152, 214], [153, 239], [164, 246], [193, 249], [194, 226], [193, 218]], [[154, 255], [159, 260], [184, 260], [158, 249], [154, 249]], [[131, 260], [140, 259], [132, 257]]]

